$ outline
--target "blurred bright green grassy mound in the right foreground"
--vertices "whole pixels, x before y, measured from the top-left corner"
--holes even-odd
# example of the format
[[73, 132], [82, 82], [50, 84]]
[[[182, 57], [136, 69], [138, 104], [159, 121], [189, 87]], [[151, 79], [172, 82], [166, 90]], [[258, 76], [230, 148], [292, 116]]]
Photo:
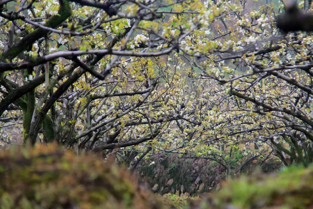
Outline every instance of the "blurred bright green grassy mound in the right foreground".
[[220, 191], [192, 203], [190, 208], [312, 208], [312, 182], [313, 166], [290, 167], [279, 174], [242, 176], [223, 182]]

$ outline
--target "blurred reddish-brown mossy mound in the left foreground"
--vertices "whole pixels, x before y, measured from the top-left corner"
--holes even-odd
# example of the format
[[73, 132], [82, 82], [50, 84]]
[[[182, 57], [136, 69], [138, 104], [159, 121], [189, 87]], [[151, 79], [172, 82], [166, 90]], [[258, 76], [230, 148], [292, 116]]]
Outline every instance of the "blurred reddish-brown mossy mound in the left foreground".
[[175, 208], [125, 170], [57, 145], [0, 153], [1, 209]]

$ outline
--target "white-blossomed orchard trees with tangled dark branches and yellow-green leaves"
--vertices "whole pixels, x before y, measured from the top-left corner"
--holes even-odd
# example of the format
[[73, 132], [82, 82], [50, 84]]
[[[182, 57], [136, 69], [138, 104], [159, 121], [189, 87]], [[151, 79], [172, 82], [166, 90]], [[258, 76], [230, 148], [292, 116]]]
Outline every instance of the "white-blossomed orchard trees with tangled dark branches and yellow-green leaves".
[[156, 153], [214, 160], [227, 175], [271, 155], [308, 165], [312, 36], [280, 34], [283, 9], [268, 0], [1, 1], [0, 120], [23, 123], [24, 143], [135, 165]]

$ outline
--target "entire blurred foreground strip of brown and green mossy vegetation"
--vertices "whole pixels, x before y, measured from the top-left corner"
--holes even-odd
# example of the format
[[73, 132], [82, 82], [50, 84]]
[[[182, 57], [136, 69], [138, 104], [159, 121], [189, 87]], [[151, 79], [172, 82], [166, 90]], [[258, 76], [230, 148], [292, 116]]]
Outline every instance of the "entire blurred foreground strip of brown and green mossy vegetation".
[[0, 205], [11, 208], [310, 208], [313, 167], [224, 181], [199, 197], [155, 195], [127, 171], [56, 145], [0, 153]]

